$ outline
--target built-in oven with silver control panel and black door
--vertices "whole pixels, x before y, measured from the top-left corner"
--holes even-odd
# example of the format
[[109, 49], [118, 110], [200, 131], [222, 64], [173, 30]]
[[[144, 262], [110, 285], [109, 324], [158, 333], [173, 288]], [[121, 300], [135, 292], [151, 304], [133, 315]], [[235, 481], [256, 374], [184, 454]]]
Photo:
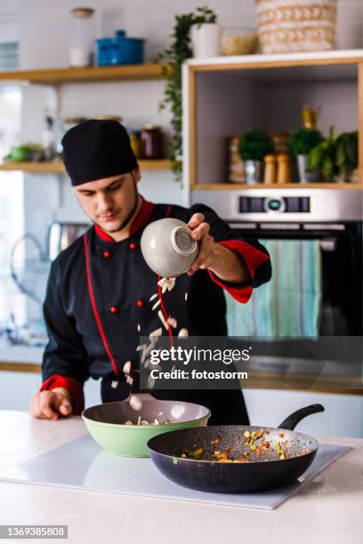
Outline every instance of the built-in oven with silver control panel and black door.
[[362, 325], [362, 195], [359, 190], [251, 188], [196, 190], [244, 236], [319, 240], [322, 262], [320, 336], [360, 336]]

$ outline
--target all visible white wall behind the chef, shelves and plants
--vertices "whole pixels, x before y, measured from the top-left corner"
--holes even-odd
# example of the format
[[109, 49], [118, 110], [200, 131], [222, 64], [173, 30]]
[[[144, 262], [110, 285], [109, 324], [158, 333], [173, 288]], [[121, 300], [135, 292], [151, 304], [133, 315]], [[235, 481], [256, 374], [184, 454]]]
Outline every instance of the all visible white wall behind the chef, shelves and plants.
[[[146, 38], [146, 59], [150, 60], [169, 42], [175, 15], [193, 11], [204, 3], [198, 0], [123, 0], [122, 3], [115, 0], [89, 0], [85, 4], [95, 9], [98, 37], [111, 36], [117, 28], [125, 28], [129, 36]], [[210, 0], [205, 4], [214, 8], [223, 26], [256, 26], [254, 0]], [[2, 2], [0, 21], [2, 11], [18, 12], [20, 68], [68, 66], [69, 12], [77, 5], [77, 0]], [[340, 0], [337, 23], [339, 48], [363, 46], [362, 21], [362, 0]], [[140, 128], [149, 121], [160, 124], [167, 131], [169, 115], [157, 111], [163, 88], [162, 81], [67, 85], [60, 90], [60, 111], [65, 116], [120, 115], [130, 127]], [[36, 92], [39, 92], [37, 100], [34, 90], [24, 90], [23, 135], [32, 140], [41, 138], [44, 104], [48, 103], [44, 101], [44, 92]], [[51, 102], [53, 100], [50, 96], [48, 99]], [[47, 184], [48, 188], [52, 184], [52, 190], [57, 191], [55, 180], [51, 182], [44, 177], [39, 183]], [[144, 172], [140, 189], [144, 196], [155, 202], [185, 202], [181, 187], [173, 181], [171, 172]], [[83, 214], [72, 202], [67, 181], [64, 182], [63, 192], [63, 206], [57, 209], [48, 207], [43, 213], [44, 223], [54, 216], [67, 219], [68, 214], [69, 220], [82, 220]]]

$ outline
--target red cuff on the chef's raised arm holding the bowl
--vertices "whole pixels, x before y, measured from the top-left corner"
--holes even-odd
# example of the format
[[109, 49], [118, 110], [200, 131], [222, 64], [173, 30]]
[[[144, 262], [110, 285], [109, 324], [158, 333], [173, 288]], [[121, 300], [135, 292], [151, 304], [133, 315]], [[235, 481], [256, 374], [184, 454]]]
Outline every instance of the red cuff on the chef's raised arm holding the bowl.
[[[224, 242], [218, 242], [218, 244], [224, 245], [224, 247], [245, 260], [246, 267], [251, 276], [251, 281], [254, 279], [257, 268], [262, 262], [269, 259], [269, 255], [256, 249], [253, 245], [247, 244], [247, 242], [242, 242], [242, 240], [226, 240]], [[220, 287], [229, 292], [230, 296], [233, 297], [233, 299], [238, 300], [238, 302], [246, 303], [251, 298], [253, 292], [252, 285], [245, 285], [243, 287], [238, 287], [236, 285], [234, 287], [229, 282], [224, 283], [219, 277], [214, 276], [214, 273], [211, 272], [211, 270], [208, 270], [208, 273], [215, 284], [220, 285]]]

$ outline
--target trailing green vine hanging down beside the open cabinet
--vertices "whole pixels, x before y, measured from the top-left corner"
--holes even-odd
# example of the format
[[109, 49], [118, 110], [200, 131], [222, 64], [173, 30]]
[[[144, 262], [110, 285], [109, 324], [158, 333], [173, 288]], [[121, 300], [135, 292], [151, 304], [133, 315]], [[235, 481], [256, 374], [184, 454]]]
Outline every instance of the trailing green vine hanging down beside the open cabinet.
[[162, 63], [163, 74], [166, 78], [164, 96], [159, 103], [159, 109], [170, 108], [172, 114], [173, 135], [171, 152], [173, 174], [177, 181], [182, 175], [182, 105], [181, 105], [181, 67], [185, 60], [193, 56], [190, 43], [190, 28], [193, 25], [215, 23], [217, 16], [213, 10], [204, 6], [198, 7], [196, 12], [190, 12], [175, 17], [172, 34], [172, 43], [159, 52], [155, 62]]

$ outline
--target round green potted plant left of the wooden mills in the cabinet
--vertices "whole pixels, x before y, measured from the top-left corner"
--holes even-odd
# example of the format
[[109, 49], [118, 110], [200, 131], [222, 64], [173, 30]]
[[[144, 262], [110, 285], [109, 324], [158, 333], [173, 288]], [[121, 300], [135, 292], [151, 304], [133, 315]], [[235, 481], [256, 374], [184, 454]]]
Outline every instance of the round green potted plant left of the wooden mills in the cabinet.
[[268, 132], [253, 129], [241, 136], [238, 141], [238, 155], [245, 163], [247, 184], [262, 181], [263, 158], [273, 151], [273, 140]]

